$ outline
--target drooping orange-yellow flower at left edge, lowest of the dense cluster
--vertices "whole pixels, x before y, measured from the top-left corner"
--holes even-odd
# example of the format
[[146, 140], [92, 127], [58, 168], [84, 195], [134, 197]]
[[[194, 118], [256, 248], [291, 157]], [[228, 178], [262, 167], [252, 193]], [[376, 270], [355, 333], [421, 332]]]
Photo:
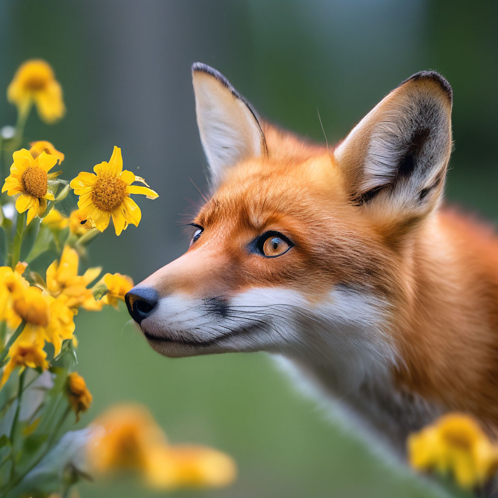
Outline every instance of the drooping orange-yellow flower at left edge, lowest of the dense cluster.
[[23, 331], [9, 349], [10, 359], [3, 367], [0, 387], [7, 381], [16, 367], [47, 370], [47, 354], [43, 351], [43, 345], [44, 341], [40, 340], [35, 333]]

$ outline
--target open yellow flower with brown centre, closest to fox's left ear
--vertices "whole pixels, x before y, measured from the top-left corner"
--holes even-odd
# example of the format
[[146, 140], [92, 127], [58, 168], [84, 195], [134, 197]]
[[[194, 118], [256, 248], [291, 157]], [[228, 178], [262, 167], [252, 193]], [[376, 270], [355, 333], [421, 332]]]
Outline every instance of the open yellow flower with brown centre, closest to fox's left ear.
[[70, 184], [74, 193], [80, 196], [78, 208], [82, 216], [91, 218], [101, 232], [107, 228], [112, 216], [116, 235], [120, 235], [128, 224], [138, 226], [142, 215], [130, 194], [143, 194], [148, 199], [155, 199], [157, 193], [148, 186], [131, 185], [135, 181], [147, 184], [143, 178], [123, 170], [119, 147], [114, 147], [109, 162], [97, 164], [94, 171], [96, 175], [81, 172]]

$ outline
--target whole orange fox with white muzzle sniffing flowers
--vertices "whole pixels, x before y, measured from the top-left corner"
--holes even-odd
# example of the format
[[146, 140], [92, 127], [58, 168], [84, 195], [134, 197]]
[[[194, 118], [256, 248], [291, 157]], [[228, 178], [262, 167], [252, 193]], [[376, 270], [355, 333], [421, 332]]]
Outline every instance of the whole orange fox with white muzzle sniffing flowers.
[[443, 203], [453, 92], [422, 71], [335, 147], [192, 66], [209, 195], [188, 250], [125, 296], [170, 358], [265, 351], [406, 458], [444, 413], [498, 427], [498, 237]]

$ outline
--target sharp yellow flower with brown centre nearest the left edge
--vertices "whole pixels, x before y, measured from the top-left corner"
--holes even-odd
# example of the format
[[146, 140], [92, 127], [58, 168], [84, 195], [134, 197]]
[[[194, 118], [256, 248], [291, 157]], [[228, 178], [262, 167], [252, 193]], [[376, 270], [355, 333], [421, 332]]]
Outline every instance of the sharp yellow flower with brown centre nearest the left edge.
[[15, 202], [18, 213], [28, 210], [27, 225], [36, 216], [42, 216], [47, 209], [47, 200], [53, 201], [54, 195], [48, 191], [48, 180], [55, 178], [58, 173], [50, 171], [58, 158], [42, 152], [36, 159], [26, 149], [16, 150], [12, 157], [14, 162], [10, 166], [10, 175], [5, 178], [1, 189], [7, 195], [21, 194]]

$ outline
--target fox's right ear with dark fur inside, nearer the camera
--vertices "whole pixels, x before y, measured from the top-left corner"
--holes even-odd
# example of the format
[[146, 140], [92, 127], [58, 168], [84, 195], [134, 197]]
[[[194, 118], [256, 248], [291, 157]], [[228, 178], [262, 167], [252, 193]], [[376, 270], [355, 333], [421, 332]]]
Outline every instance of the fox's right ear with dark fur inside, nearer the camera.
[[386, 235], [406, 231], [438, 205], [452, 146], [452, 99], [438, 73], [414, 74], [334, 151], [352, 201]]

